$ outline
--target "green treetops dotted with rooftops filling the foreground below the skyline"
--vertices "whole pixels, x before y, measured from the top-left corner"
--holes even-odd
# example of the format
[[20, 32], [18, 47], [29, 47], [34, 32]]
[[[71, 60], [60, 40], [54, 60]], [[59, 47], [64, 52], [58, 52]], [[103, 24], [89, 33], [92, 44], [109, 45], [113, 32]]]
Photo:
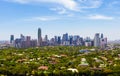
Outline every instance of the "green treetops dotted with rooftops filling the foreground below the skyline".
[[120, 49], [79, 52], [81, 49], [93, 48], [55, 46], [2, 49], [0, 75], [120, 76]]

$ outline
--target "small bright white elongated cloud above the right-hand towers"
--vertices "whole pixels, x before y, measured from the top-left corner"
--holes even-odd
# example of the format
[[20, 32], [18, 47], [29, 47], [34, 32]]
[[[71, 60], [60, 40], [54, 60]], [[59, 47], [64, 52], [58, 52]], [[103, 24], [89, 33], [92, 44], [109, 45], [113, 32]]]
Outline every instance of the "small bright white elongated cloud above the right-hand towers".
[[88, 16], [88, 19], [93, 19], [93, 20], [113, 20], [113, 17], [109, 16], [104, 16], [104, 15], [90, 15]]

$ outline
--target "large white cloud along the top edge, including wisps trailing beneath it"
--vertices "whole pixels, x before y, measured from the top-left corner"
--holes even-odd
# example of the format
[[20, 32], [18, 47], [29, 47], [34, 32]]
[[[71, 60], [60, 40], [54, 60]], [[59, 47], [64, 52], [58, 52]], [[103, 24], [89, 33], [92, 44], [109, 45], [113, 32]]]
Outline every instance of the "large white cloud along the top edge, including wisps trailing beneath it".
[[74, 12], [85, 12], [86, 9], [99, 8], [102, 0], [5, 0], [21, 4], [51, 3], [50, 10], [60, 15], [74, 16]]

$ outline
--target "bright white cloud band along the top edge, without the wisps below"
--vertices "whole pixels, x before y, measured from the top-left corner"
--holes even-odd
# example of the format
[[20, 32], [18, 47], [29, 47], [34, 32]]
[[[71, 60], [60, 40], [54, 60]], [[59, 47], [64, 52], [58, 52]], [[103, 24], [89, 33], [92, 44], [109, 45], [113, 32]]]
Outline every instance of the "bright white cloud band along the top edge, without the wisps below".
[[102, 4], [102, 0], [5, 0], [17, 3], [55, 3], [61, 5], [67, 10], [80, 11], [86, 8], [98, 8]]

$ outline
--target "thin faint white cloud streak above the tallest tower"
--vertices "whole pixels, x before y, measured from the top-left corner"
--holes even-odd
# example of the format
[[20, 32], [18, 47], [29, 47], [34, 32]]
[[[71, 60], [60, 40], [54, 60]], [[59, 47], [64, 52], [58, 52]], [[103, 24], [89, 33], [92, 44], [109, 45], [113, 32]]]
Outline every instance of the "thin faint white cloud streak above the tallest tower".
[[32, 17], [32, 18], [27, 18], [23, 19], [24, 21], [54, 21], [58, 20], [59, 18], [57, 17], [52, 17], [52, 16], [44, 16], [44, 17]]

